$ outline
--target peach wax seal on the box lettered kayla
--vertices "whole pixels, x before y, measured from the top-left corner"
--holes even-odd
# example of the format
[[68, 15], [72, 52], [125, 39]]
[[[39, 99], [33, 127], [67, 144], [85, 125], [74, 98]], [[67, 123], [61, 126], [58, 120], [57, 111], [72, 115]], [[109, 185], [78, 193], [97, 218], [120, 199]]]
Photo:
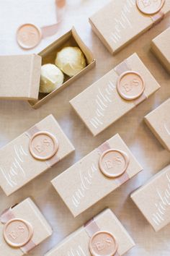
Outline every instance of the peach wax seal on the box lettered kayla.
[[48, 160], [58, 151], [58, 140], [50, 132], [36, 132], [30, 138], [30, 153], [38, 160]]

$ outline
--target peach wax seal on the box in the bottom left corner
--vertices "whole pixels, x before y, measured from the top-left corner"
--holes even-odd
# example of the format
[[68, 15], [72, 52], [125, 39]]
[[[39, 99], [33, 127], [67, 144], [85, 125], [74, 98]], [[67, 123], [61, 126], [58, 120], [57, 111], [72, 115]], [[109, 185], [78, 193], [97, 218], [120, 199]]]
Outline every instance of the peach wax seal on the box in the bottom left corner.
[[23, 247], [30, 242], [33, 229], [30, 223], [20, 218], [13, 218], [4, 225], [4, 239], [12, 247]]

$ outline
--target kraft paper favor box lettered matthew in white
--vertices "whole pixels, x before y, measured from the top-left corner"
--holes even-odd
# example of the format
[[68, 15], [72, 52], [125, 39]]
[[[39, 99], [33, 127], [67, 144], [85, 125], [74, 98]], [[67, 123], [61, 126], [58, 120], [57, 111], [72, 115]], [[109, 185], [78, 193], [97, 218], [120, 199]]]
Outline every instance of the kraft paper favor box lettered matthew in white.
[[[140, 77], [134, 72], [138, 72]], [[127, 81], [121, 80], [121, 86], [125, 86], [125, 89], [123, 88], [124, 91], [122, 91], [123, 95], [118, 91], [121, 77], [124, 80], [127, 77]], [[138, 55], [133, 54], [73, 98], [70, 103], [84, 121], [86, 127], [95, 136], [155, 93], [159, 88], [158, 82], [156, 82]], [[141, 93], [141, 95], [138, 98], [126, 99], [130, 95], [138, 96], [136, 93]]]

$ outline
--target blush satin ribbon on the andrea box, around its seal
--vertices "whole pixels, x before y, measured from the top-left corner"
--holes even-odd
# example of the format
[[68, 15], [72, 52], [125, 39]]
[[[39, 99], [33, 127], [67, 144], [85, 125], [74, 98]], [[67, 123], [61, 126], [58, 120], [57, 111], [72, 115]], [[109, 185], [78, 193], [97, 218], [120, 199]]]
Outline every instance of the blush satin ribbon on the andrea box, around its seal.
[[[104, 142], [102, 145], [99, 145], [99, 148], [97, 148], [97, 150], [100, 154], [102, 154], [104, 151], [109, 150], [109, 149], [112, 149], [112, 148], [109, 146], [108, 141]], [[125, 171], [124, 174], [122, 174], [121, 176], [119, 176], [117, 178], [114, 178], [113, 181], [120, 186], [123, 183], [127, 182], [129, 179], [130, 179], [130, 177], [128, 175], [128, 172]]]

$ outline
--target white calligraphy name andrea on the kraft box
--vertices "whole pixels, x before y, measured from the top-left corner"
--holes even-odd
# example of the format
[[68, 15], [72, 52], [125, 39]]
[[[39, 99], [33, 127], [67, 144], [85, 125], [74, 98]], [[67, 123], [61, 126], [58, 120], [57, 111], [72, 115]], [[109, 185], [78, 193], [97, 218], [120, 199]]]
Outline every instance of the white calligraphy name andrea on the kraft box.
[[92, 163], [91, 168], [87, 170], [87, 174], [81, 174], [81, 170], [79, 171], [81, 183], [79, 188], [73, 193], [72, 202], [73, 205], [78, 208], [81, 200], [86, 196], [86, 191], [88, 191], [91, 187], [92, 180], [94, 178], [94, 174], [97, 172], [97, 166], [95, 163]]

